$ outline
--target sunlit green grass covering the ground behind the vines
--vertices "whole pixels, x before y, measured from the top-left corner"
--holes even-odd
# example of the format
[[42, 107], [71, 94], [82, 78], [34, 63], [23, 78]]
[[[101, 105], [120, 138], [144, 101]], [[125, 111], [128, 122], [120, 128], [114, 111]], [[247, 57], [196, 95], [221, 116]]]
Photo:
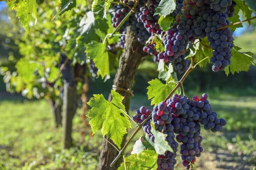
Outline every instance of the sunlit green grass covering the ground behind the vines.
[[[194, 93], [195, 94], [195, 93]], [[196, 93], [200, 94], [200, 93]], [[190, 96], [190, 95], [189, 95]], [[256, 162], [256, 96], [237, 97], [209, 93], [218, 117], [227, 120], [221, 133], [202, 130], [204, 153], [197, 159], [197, 170], [252, 170]], [[131, 113], [141, 104], [149, 106], [146, 96], [132, 98]], [[47, 101], [2, 101], [0, 103], [0, 169], [7, 170], [95, 170], [102, 135], [91, 136], [90, 126], [82, 127], [80, 109], [73, 120], [74, 146], [61, 150], [61, 128], [54, 128]], [[132, 133], [135, 126], [128, 129]], [[81, 135], [84, 130], [84, 136]], [[135, 138], [136, 141], [143, 131]], [[129, 137], [129, 136], [128, 136]], [[127, 154], [132, 150], [132, 145]], [[224, 158], [220, 155], [225, 154]], [[176, 170], [184, 169], [178, 160]], [[215, 161], [218, 164], [214, 163]], [[229, 166], [226, 166], [226, 164]], [[239, 163], [240, 167], [237, 165]], [[208, 164], [213, 164], [209, 169]], [[2, 166], [2, 167], [1, 167]]]

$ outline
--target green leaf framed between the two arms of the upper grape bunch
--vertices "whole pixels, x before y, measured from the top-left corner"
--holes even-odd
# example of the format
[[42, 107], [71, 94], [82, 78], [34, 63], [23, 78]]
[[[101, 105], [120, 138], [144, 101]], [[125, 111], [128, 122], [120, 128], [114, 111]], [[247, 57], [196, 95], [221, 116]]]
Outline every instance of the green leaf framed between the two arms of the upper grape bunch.
[[[205, 37], [204, 39], [195, 40], [195, 62], [198, 63], [202, 59], [205, 59], [206, 57], [212, 56], [212, 48], [209, 45], [209, 42], [207, 41], [207, 38]], [[198, 65], [200, 67], [204, 67], [207, 65], [207, 63], [210, 62], [210, 59], [205, 59], [204, 61], [200, 62]]]

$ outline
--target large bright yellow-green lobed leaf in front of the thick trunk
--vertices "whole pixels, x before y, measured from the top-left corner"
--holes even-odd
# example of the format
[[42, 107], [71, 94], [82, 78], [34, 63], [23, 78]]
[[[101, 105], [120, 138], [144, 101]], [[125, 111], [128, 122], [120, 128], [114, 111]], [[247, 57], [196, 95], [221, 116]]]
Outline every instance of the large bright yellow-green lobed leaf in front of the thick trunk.
[[[125, 111], [125, 106], [122, 105], [124, 97], [114, 90], [111, 91], [111, 95], [113, 104]], [[93, 134], [102, 129], [102, 135], [112, 139], [116, 146], [120, 148], [123, 136], [127, 133], [126, 129], [131, 128], [128, 116], [122, 116], [119, 108], [106, 100], [102, 94], [94, 94], [93, 96], [87, 103], [91, 107], [87, 117], [90, 118]]]

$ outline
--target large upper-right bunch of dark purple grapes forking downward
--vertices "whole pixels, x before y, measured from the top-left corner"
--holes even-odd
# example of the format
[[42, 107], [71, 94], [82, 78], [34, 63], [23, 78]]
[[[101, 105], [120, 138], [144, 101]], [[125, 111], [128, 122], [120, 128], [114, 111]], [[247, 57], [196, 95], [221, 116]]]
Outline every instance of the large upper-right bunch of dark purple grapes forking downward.
[[179, 5], [181, 12], [176, 14], [176, 22], [166, 31], [165, 51], [158, 54], [158, 58], [173, 62], [185, 53], [189, 42], [208, 37], [214, 50], [210, 60], [214, 63], [212, 70], [224, 70], [231, 63], [233, 33], [222, 27], [230, 24], [227, 17], [233, 16], [236, 4], [232, 0], [183, 0], [182, 5]]

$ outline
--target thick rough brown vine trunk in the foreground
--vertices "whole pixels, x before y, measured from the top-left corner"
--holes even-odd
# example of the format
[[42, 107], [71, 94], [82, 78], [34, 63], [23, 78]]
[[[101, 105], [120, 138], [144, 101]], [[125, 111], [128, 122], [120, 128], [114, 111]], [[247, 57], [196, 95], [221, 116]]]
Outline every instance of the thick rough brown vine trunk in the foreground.
[[[130, 27], [127, 28], [127, 36], [125, 37], [125, 51], [119, 59], [119, 68], [115, 79], [113, 80], [113, 85], [116, 85], [119, 88], [131, 89], [134, 85], [134, 76], [137, 71], [140, 62], [142, 62], [143, 57], [147, 54], [143, 51], [143, 45], [137, 40], [133, 32], [130, 30]], [[125, 105], [125, 110], [128, 113], [130, 108], [130, 99], [131, 94], [126, 93], [125, 91], [116, 90], [120, 95], [125, 96], [123, 100], [123, 105]], [[110, 101], [112, 96], [110, 94], [108, 100]], [[121, 147], [124, 146], [126, 141], [126, 136], [122, 141]], [[110, 140], [109, 140], [110, 141]], [[99, 170], [116, 170], [122, 163], [122, 157], [116, 161], [113, 167], [110, 167], [111, 162], [118, 155], [118, 151], [109, 144], [105, 138], [102, 141], [102, 150], [99, 157]]]

